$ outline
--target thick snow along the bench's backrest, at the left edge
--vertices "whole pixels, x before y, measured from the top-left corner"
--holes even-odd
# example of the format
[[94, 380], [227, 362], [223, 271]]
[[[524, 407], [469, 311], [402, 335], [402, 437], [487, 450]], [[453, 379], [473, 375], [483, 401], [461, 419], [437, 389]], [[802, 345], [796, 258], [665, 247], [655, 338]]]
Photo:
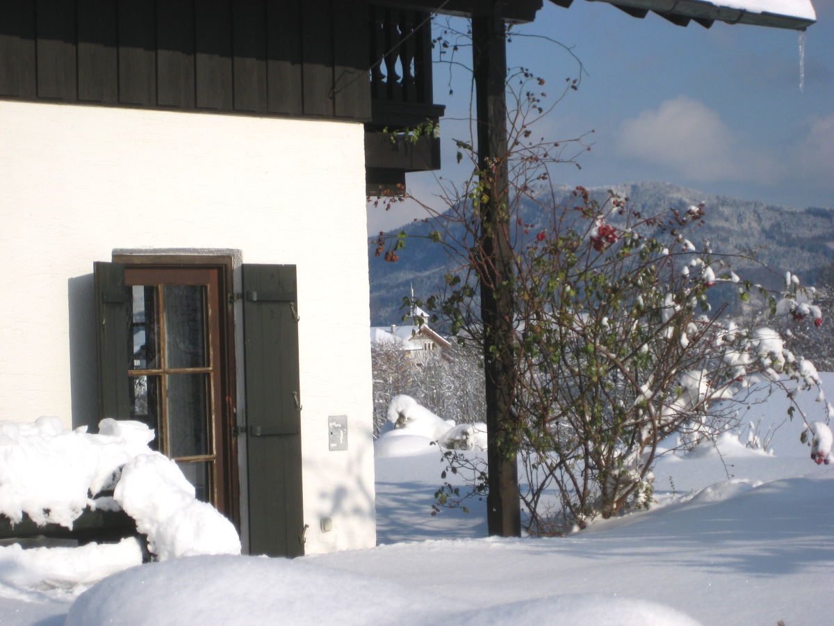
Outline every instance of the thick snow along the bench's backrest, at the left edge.
[[98, 435], [64, 431], [58, 417], [0, 422], [0, 514], [18, 523], [23, 513], [43, 525], [73, 528], [93, 497], [113, 488], [118, 469], [150, 452], [153, 431], [140, 422], [105, 419]]

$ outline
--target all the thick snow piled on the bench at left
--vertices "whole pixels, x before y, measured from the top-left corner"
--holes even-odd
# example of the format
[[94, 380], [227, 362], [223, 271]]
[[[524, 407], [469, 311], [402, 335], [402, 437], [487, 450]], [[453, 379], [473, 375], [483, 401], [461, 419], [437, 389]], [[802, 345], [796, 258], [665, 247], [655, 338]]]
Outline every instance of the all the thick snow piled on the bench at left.
[[[98, 430], [63, 430], [57, 417], [0, 422], [0, 514], [12, 523], [25, 513], [38, 525], [73, 528], [87, 507], [123, 509], [159, 560], [240, 553], [232, 523], [194, 498], [175, 462], [148, 448], [153, 432], [147, 426], [105, 419]], [[96, 497], [111, 489], [113, 497]], [[73, 548], [0, 546], [0, 585], [24, 597], [35, 590], [61, 598], [63, 589], [79, 593], [142, 559], [135, 538]]]

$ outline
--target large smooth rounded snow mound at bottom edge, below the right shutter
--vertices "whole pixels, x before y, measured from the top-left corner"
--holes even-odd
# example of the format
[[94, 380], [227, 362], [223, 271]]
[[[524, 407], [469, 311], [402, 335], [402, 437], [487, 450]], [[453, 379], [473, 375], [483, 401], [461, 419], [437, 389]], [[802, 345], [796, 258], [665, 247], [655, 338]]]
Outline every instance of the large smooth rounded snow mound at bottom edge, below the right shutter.
[[78, 597], [66, 626], [428, 624], [436, 623], [430, 608], [439, 602], [414, 588], [307, 559], [203, 556], [106, 578]]

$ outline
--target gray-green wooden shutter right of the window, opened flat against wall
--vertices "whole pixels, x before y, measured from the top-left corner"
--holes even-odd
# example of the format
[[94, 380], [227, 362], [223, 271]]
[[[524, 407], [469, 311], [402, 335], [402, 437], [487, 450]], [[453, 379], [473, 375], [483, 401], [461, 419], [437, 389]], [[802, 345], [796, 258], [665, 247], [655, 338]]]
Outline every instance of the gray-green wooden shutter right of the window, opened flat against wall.
[[304, 553], [294, 265], [244, 265], [249, 552]]

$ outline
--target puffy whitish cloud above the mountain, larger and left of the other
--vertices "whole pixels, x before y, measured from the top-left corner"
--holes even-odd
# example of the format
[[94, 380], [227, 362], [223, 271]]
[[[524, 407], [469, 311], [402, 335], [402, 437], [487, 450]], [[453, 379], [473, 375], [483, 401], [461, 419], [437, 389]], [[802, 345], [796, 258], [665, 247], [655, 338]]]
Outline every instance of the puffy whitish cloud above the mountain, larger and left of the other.
[[716, 111], [686, 96], [626, 119], [615, 142], [625, 157], [666, 166], [696, 181], [766, 183], [780, 171], [774, 159], [747, 147]]

